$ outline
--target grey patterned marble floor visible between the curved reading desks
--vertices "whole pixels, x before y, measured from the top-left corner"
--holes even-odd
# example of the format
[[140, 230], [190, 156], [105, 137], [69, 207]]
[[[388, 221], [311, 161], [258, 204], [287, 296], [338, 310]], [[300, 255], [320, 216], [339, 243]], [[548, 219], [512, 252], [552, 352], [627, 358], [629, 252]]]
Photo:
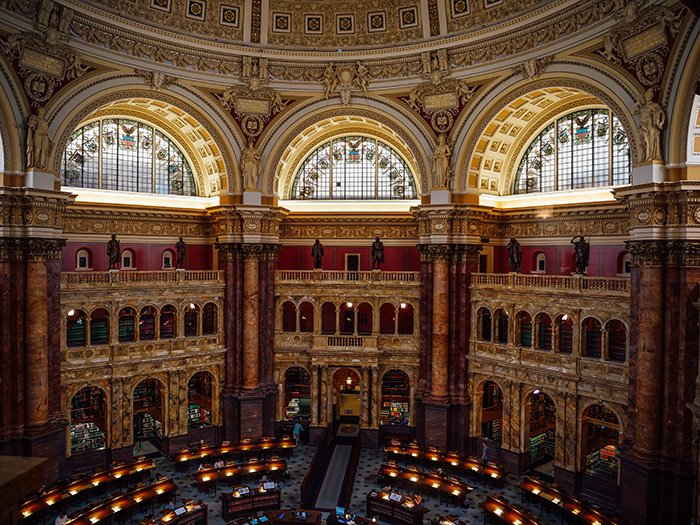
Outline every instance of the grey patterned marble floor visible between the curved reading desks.
[[[299, 508], [301, 482], [304, 479], [306, 470], [308, 469], [315, 452], [315, 445], [300, 445], [296, 449], [295, 455], [288, 458], [287, 464], [291, 478], [284, 480], [284, 482], [281, 484], [282, 508], [288, 508], [290, 506]], [[377, 469], [379, 465], [385, 461], [386, 455], [384, 452], [381, 452], [380, 449], [362, 450], [357, 469], [357, 476], [355, 478], [352, 502], [348, 506], [349, 512], [360, 516], [365, 515], [365, 496], [373, 489], [381, 489], [382, 485], [377, 482]], [[208, 496], [206, 493], [201, 493], [197, 490], [197, 485], [192, 477], [192, 472], [194, 472], [196, 469], [196, 465], [193, 464], [191, 466], [192, 472], [177, 472], [175, 470], [175, 464], [170, 459], [158, 457], [155, 459], [155, 463], [157, 468], [154, 475], [156, 473], [162, 474], [175, 480], [175, 483], [178, 486], [176, 503], [179, 503], [184, 499], [194, 499], [197, 501], [201, 500], [208, 505], [210, 524], [223, 525], [226, 523], [221, 517], [221, 502], [219, 501], [218, 496], [222, 493], [222, 491], [230, 490], [228, 487], [220, 484], [217, 490], [217, 496]], [[483, 523], [483, 512], [479, 508], [479, 503], [484, 501], [488, 494], [500, 493], [501, 495], [505, 496], [511, 504], [520, 504], [533, 514], [539, 515], [542, 518], [543, 523], [551, 525], [560, 523], [560, 518], [557, 515], [552, 514], [548, 516], [546, 514], [541, 514], [539, 507], [530, 505], [527, 502], [521, 502], [520, 489], [518, 488], [518, 483], [520, 483], [521, 480], [522, 477], [509, 474], [506, 478], [505, 486], [502, 489], [493, 489], [483, 484], [470, 483], [470, 485], [474, 487], [474, 491], [467, 496], [470, 502], [468, 508], [441, 504], [437, 497], [424, 498], [425, 507], [430, 509], [430, 512], [426, 514], [425, 519], [426, 521], [430, 521], [432, 518], [438, 515], [453, 514], [464, 523]], [[70, 513], [73, 510], [76, 509], [69, 509], [68, 512]], [[161, 509], [158, 508], [155, 509], [156, 517], [161, 516], [160, 510]], [[138, 523], [143, 518], [143, 515], [143, 512], [140, 514], [135, 514], [131, 522]], [[52, 523], [55, 517], [56, 516], [48, 513], [45, 517], [45, 523]]]

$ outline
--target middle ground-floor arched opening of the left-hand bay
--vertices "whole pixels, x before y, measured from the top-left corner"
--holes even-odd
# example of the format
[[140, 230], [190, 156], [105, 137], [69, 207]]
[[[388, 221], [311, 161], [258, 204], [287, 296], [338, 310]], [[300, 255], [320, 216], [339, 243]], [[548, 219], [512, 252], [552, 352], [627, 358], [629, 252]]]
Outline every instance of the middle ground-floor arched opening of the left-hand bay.
[[152, 447], [160, 449], [163, 440], [164, 388], [157, 379], [145, 379], [134, 389], [134, 453]]

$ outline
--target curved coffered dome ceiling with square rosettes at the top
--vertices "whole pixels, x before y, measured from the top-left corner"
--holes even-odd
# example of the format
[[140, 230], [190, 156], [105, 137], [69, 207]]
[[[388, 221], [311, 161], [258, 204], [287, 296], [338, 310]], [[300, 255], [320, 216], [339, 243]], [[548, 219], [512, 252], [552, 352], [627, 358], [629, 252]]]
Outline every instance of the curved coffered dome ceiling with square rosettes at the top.
[[[408, 46], [560, 11], [541, 0], [96, 0], [84, 5], [183, 35], [304, 51]], [[249, 6], [249, 7], [248, 7]]]

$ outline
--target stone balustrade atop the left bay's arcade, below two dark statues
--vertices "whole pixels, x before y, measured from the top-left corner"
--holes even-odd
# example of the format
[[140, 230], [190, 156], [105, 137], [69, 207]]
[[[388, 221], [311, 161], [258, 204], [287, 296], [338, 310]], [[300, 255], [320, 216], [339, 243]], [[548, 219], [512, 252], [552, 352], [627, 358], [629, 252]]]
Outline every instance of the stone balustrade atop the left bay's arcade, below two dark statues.
[[223, 283], [223, 272], [218, 270], [159, 270], [154, 272], [63, 272], [61, 287], [124, 286], [178, 283]]

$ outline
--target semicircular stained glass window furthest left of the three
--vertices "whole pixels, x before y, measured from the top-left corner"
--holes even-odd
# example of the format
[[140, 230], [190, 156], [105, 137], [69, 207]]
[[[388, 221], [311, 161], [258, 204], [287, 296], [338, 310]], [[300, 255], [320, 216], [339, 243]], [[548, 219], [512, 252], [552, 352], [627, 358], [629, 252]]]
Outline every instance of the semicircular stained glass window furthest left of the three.
[[192, 170], [173, 141], [130, 119], [104, 119], [75, 131], [61, 173], [64, 186], [197, 194]]

